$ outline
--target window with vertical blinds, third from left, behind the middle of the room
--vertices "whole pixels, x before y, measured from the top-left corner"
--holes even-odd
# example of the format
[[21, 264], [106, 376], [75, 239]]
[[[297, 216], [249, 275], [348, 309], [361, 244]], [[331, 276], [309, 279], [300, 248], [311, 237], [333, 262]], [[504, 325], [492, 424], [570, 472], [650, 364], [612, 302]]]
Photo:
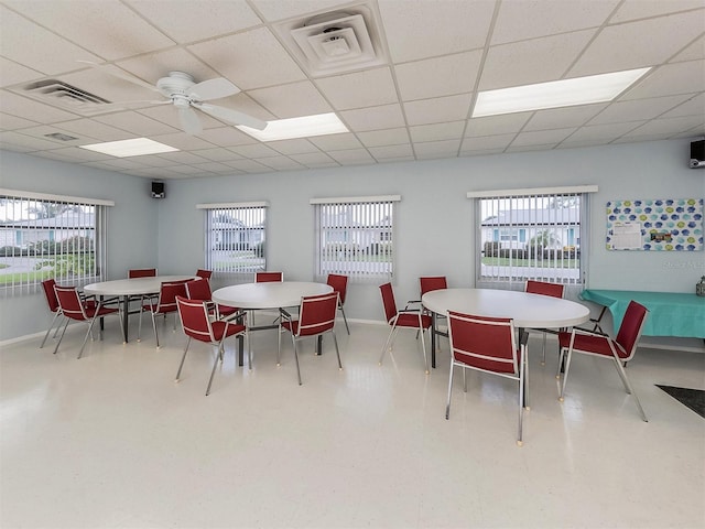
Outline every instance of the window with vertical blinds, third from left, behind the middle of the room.
[[315, 279], [328, 273], [351, 282], [379, 282], [394, 269], [394, 203], [401, 197], [375, 196], [312, 199], [315, 218]]

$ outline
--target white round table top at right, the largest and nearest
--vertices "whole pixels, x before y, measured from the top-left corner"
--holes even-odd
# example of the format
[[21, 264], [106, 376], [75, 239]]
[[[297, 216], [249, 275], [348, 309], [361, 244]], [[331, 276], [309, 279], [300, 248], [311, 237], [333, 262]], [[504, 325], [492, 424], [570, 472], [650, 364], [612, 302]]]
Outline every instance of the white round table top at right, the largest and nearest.
[[478, 316], [511, 317], [517, 327], [570, 327], [590, 317], [589, 309], [574, 301], [511, 290], [434, 290], [426, 292], [421, 301], [437, 314], [451, 310]]

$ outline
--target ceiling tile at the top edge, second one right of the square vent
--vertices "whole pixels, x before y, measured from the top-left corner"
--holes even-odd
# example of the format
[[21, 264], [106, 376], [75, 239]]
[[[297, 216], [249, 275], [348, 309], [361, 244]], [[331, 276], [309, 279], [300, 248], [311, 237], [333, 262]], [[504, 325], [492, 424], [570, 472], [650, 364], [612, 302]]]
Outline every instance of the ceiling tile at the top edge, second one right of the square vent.
[[491, 44], [599, 28], [619, 0], [505, 0]]

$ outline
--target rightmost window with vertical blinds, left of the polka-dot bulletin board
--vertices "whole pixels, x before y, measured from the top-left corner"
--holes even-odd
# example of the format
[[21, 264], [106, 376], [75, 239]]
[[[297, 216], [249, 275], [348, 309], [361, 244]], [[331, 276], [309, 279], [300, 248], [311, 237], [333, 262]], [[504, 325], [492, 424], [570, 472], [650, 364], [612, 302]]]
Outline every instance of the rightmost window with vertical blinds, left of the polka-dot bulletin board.
[[[478, 287], [523, 289], [528, 279], [584, 282], [587, 197], [595, 186], [468, 193], [476, 201]], [[571, 289], [571, 285], [573, 288]]]

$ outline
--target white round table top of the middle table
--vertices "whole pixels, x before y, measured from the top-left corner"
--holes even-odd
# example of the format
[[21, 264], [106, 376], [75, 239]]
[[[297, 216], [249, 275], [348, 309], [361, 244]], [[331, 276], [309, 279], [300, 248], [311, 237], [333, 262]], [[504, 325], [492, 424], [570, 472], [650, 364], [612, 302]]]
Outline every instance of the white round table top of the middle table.
[[239, 309], [280, 309], [299, 306], [301, 299], [333, 292], [333, 287], [324, 283], [282, 281], [274, 283], [245, 283], [218, 289], [213, 301], [220, 305]]

